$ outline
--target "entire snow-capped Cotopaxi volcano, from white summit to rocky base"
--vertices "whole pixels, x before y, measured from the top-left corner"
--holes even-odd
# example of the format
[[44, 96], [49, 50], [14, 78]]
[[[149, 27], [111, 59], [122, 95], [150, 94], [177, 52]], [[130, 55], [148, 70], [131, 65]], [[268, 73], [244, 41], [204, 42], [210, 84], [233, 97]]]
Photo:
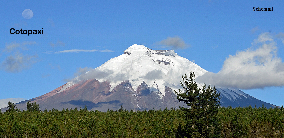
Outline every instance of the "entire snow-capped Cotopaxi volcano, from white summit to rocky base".
[[[181, 76], [191, 71], [195, 72], [195, 77], [207, 72], [178, 56], [174, 50], [152, 50], [134, 44], [124, 50], [124, 54], [30, 101], [36, 101], [40, 110], [74, 109], [85, 105], [89, 110], [101, 111], [116, 110], [120, 105], [134, 111], [178, 108], [187, 105], [178, 101], [174, 90], [181, 88]], [[217, 91], [221, 93], [221, 106], [259, 107], [264, 104], [267, 108], [276, 107], [241, 90], [217, 87]], [[15, 105], [26, 109], [26, 101]]]

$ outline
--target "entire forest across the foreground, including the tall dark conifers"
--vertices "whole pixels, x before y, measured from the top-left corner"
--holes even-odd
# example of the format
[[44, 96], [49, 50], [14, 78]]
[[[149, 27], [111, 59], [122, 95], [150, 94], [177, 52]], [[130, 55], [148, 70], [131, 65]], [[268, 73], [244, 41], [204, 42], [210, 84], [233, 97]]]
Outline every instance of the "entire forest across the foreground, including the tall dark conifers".
[[88, 111], [39, 110], [28, 101], [27, 110], [0, 109], [0, 138], [21, 137], [176, 137], [176, 138], [283, 138], [284, 109], [231, 106], [220, 108], [220, 93], [210, 85], [198, 88], [194, 72], [182, 76], [183, 90], [176, 92], [187, 107], [170, 110]]

